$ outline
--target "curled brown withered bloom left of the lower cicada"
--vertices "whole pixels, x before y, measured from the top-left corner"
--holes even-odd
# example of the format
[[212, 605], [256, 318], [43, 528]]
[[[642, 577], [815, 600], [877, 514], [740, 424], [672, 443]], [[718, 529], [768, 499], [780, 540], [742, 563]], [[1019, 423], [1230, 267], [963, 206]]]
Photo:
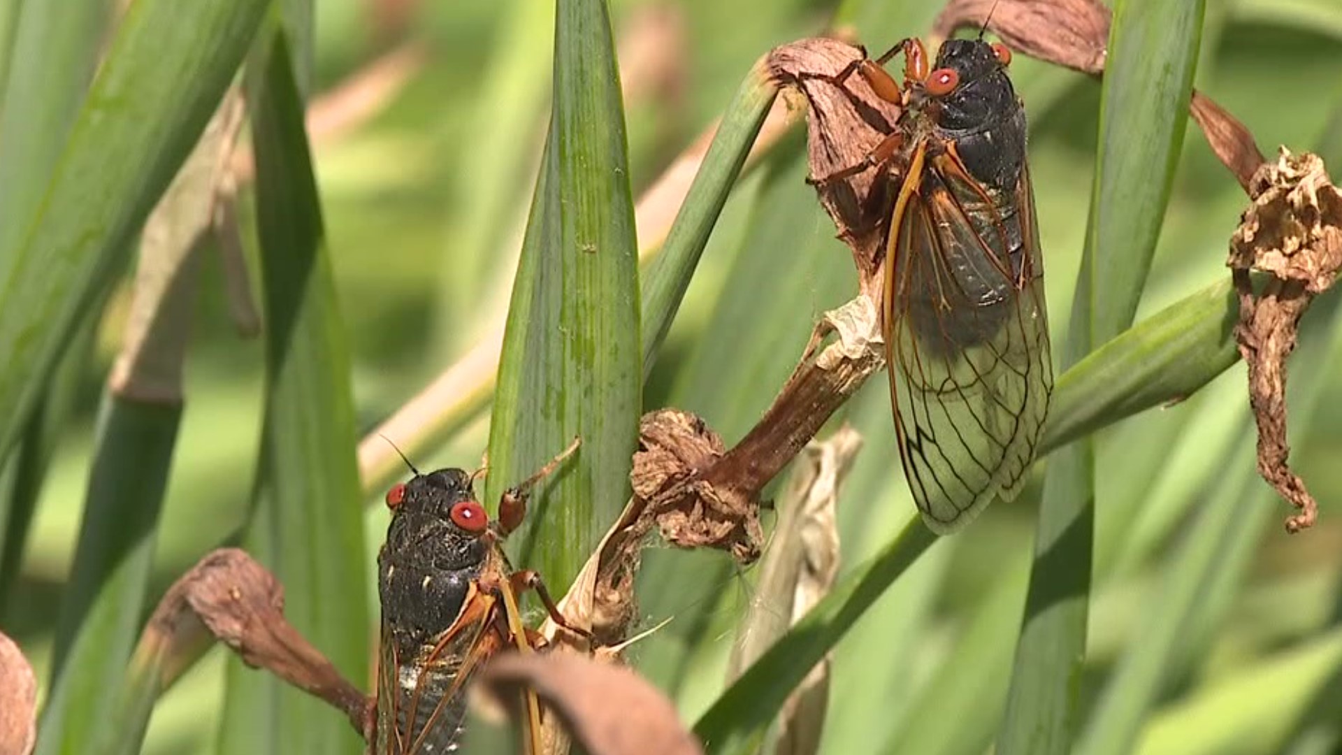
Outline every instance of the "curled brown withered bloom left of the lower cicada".
[[285, 619], [283, 609], [285, 588], [275, 575], [246, 551], [220, 548], [173, 583], [140, 643], [161, 648], [170, 657], [208, 630], [247, 665], [266, 669], [341, 709], [368, 739], [368, 697]]

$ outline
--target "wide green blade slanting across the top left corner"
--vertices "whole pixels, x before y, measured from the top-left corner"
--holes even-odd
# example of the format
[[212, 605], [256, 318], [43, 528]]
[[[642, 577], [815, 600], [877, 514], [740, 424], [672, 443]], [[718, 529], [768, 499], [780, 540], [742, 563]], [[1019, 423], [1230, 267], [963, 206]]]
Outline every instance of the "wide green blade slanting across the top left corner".
[[0, 250], [0, 449], [213, 113], [266, 0], [138, 0], [19, 242]]

